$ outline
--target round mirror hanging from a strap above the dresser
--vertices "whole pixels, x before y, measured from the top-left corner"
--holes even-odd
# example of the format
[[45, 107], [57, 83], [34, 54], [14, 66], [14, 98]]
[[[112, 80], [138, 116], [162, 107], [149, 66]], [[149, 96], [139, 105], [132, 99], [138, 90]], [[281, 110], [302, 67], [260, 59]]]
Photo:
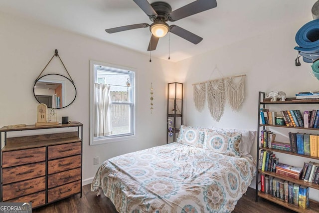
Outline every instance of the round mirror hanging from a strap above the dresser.
[[74, 83], [60, 74], [47, 74], [35, 81], [33, 94], [48, 108], [61, 109], [73, 103], [76, 97]]

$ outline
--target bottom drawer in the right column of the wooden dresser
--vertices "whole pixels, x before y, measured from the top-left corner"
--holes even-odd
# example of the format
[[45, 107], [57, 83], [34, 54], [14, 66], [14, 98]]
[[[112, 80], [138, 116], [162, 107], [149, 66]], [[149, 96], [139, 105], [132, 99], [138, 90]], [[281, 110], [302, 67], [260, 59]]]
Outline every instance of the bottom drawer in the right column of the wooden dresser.
[[48, 203], [81, 192], [81, 181], [72, 182], [54, 189], [48, 190]]

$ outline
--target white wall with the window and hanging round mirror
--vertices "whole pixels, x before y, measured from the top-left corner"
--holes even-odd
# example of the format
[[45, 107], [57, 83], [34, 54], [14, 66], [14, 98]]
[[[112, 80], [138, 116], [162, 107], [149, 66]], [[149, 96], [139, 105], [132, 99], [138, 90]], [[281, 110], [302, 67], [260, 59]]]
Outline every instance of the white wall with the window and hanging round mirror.
[[[175, 81], [174, 64], [156, 58], [152, 58], [150, 63], [147, 51], [145, 55], [140, 54], [3, 14], [0, 14], [0, 28], [0, 127], [36, 122], [38, 102], [33, 96], [34, 80], [52, 57], [54, 50], [58, 49], [77, 89], [73, 104], [57, 110], [58, 119], [61, 122], [62, 116], [69, 116], [69, 120], [83, 123], [84, 180], [93, 177], [98, 169], [98, 165], [93, 166], [95, 156], [99, 156], [102, 163], [120, 154], [166, 143], [166, 85]], [[136, 68], [136, 140], [89, 146], [91, 59]], [[67, 76], [57, 57], [51, 63], [43, 74], [58, 73]], [[151, 82], [154, 88], [153, 114], [150, 111]]]

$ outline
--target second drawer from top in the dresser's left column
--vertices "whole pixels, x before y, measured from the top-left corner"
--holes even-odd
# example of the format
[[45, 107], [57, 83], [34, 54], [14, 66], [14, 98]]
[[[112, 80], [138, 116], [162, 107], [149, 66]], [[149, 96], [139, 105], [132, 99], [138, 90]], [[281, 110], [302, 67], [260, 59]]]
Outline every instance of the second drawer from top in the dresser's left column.
[[45, 162], [2, 169], [2, 184], [45, 176]]

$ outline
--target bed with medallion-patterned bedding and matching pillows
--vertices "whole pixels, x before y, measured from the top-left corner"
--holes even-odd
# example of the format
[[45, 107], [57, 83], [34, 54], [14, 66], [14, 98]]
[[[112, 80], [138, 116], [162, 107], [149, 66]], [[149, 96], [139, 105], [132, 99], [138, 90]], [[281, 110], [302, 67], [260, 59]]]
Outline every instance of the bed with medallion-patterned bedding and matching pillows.
[[105, 161], [91, 191], [119, 213], [229, 213], [256, 175], [240, 143], [239, 132], [182, 126], [177, 142]]

